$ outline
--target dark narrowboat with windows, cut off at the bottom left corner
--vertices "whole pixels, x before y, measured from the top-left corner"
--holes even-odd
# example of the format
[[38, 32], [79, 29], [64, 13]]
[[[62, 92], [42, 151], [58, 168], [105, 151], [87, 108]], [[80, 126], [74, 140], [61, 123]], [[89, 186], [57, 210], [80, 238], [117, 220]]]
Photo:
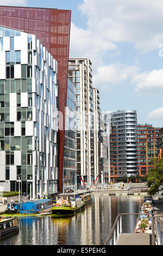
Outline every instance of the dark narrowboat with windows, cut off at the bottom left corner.
[[17, 217], [0, 216], [0, 239], [1, 237], [19, 231]]

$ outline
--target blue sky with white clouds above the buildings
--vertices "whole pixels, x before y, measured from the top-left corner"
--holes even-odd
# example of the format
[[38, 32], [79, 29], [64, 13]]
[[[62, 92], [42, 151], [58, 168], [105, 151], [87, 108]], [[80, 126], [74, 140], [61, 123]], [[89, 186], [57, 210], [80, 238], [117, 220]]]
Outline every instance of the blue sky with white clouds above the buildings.
[[163, 127], [162, 0], [0, 0], [71, 10], [70, 58], [89, 58], [104, 112], [137, 111]]

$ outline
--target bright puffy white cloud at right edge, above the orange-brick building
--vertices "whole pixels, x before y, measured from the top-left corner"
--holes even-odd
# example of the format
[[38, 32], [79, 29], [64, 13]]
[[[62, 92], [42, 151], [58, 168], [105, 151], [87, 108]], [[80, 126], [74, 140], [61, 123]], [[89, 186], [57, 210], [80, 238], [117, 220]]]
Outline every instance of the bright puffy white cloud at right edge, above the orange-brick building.
[[136, 93], [163, 93], [163, 69], [136, 74], [133, 81]]

